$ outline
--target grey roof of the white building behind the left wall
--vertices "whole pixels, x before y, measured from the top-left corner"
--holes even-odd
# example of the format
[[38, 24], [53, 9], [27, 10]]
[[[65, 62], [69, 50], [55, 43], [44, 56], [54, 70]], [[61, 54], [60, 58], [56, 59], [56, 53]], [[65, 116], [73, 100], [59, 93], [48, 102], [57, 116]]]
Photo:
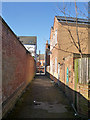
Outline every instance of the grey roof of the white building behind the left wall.
[[18, 36], [19, 40], [24, 45], [36, 45], [37, 44], [37, 37], [36, 36]]

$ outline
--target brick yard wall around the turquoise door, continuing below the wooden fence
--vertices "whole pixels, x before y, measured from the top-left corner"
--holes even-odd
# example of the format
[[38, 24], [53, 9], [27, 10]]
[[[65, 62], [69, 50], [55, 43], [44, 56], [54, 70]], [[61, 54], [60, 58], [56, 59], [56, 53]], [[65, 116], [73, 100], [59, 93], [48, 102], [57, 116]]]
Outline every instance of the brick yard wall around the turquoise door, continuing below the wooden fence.
[[[77, 83], [75, 88], [74, 56], [65, 58], [65, 94], [74, 104], [80, 115], [88, 115], [88, 85]], [[77, 58], [76, 58], [77, 59]], [[67, 67], [69, 69], [69, 82], [67, 84]]]

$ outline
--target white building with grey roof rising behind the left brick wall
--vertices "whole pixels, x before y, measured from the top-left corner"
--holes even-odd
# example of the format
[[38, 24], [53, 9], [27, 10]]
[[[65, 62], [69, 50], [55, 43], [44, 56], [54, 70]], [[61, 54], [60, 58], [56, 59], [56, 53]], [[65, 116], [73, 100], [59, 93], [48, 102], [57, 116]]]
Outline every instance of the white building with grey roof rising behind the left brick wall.
[[25, 48], [31, 53], [36, 60], [37, 52], [37, 37], [36, 36], [19, 36], [19, 40], [25, 46]]

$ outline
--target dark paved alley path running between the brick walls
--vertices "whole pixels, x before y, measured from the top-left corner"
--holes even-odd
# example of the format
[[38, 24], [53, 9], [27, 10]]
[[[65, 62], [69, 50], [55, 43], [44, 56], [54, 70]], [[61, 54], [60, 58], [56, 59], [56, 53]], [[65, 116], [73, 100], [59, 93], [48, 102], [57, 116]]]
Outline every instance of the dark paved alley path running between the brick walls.
[[35, 77], [7, 118], [74, 118], [74, 111], [62, 91], [43, 75]]

